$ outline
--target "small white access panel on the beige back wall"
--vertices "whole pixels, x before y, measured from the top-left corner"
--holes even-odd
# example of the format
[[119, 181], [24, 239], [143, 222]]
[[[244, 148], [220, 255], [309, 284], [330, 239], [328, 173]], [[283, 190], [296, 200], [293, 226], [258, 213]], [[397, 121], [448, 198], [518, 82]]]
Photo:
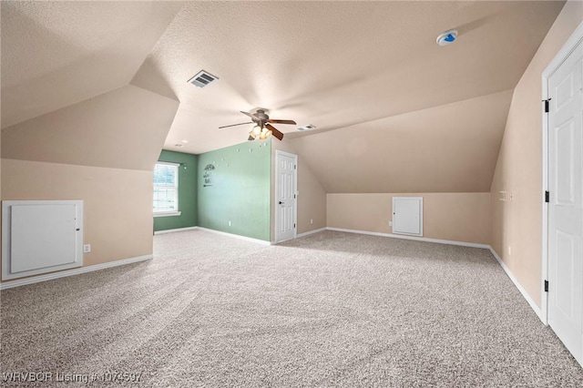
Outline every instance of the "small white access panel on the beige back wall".
[[393, 197], [393, 233], [423, 236], [423, 197]]

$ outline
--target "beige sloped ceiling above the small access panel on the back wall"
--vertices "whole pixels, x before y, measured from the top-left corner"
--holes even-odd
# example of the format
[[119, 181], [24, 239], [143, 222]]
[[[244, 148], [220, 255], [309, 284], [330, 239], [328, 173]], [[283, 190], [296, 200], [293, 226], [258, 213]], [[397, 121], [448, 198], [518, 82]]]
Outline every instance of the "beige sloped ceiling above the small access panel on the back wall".
[[486, 192], [512, 90], [295, 138], [328, 193]]

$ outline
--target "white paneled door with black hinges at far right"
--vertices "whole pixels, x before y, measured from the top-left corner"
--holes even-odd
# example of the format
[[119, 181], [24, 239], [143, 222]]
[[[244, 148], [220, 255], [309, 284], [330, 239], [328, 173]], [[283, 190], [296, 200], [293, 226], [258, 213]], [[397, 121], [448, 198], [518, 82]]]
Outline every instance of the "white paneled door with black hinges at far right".
[[548, 77], [548, 324], [583, 364], [583, 45]]

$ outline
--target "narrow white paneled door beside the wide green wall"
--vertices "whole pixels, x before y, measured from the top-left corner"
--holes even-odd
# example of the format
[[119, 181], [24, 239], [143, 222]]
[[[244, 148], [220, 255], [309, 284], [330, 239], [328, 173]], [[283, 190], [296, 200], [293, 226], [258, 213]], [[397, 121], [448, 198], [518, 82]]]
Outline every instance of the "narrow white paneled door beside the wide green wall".
[[295, 238], [297, 156], [275, 151], [275, 241]]

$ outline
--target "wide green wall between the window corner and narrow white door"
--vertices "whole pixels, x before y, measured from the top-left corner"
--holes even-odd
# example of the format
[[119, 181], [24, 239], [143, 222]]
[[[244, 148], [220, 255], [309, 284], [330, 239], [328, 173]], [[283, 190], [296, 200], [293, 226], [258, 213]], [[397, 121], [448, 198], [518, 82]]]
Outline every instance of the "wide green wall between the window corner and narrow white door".
[[270, 240], [271, 139], [200, 154], [198, 173], [200, 227]]

